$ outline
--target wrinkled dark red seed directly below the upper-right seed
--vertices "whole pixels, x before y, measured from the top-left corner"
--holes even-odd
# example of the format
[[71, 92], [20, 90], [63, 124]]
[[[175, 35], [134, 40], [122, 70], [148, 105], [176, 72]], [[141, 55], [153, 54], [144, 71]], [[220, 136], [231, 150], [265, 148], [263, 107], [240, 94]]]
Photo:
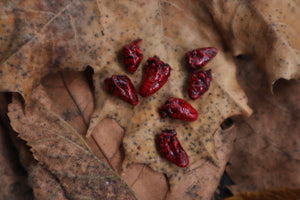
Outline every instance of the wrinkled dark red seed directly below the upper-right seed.
[[198, 99], [204, 94], [212, 81], [211, 69], [207, 71], [194, 72], [189, 79], [188, 92], [191, 99]]

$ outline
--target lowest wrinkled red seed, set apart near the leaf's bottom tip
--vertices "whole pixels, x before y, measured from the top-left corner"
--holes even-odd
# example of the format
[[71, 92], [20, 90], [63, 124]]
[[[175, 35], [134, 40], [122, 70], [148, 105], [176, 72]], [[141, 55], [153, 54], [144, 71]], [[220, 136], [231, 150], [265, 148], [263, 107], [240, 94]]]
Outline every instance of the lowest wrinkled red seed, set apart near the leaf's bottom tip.
[[160, 155], [179, 167], [187, 167], [189, 158], [173, 130], [164, 130], [157, 139]]

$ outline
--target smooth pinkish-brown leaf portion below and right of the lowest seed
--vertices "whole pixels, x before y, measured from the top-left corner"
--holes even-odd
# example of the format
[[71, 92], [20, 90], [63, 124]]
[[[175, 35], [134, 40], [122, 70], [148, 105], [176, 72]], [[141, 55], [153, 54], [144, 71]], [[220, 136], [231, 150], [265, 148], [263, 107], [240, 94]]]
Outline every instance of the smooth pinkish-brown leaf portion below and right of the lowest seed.
[[211, 199], [224, 172], [235, 137], [234, 133], [218, 129], [215, 143], [219, 165], [199, 159], [184, 172], [178, 184], [169, 192], [168, 199]]

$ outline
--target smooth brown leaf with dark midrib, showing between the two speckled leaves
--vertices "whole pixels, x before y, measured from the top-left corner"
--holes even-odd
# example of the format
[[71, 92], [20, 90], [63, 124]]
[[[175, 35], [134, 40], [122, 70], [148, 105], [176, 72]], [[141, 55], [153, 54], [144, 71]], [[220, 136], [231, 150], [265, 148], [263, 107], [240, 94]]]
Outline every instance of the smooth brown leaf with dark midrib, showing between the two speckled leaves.
[[[84, 73], [59, 73], [49, 75], [42, 80], [42, 86], [34, 91], [34, 95], [39, 96], [39, 101], [46, 104], [47, 107], [51, 108], [53, 112], [61, 116], [68, 124], [84, 136], [87, 130], [85, 121], [89, 118], [93, 108], [93, 103], [91, 103], [92, 93], [88, 88]], [[57, 98], [58, 96], [60, 98]], [[94, 137], [98, 146], [93, 143], [93, 140], [87, 139], [88, 145], [91, 146], [95, 155], [107, 162], [113, 169], [117, 169], [117, 173], [120, 173], [121, 163], [124, 157], [121, 150], [124, 134], [123, 129], [113, 120], [105, 119], [96, 127], [95, 133], [96, 132], [101, 133], [101, 135], [98, 134], [97, 137]], [[48, 147], [48, 149], [50, 149], [50, 147]], [[28, 155], [21, 156], [21, 158], [23, 158], [22, 160], [25, 161], [28, 160], [26, 157], [28, 157]], [[29, 164], [30, 166], [26, 168], [30, 173], [30, 182], [34, 189], [35, 196], [50, 198], [49, 191], [52, 191], [51, 189], [53, 189], [53, 185], [55, 185], [55, 182], [53, 183], [51, 179], [53, 175], [51, 175], [51, 173], [49, 174], [47, 170], [43, 169], [37, 163]], [[37, 169], [33, 170], [32, 168]], [[41, 176], [40, 172], [45, 173], [45, 175]], [[163, 199], [168, 191], [165, 176], [154, 172], [146, 166], [131, 166], [130, 170], [122, 173], [122, 177], [136, 191], [138, 197], [141, 199]], [[45, 186], [45, 184], [48, 185]], [[152, 186], [150, 187], [150, 185]], [[53, 196], [52, 193], [51, 195]]]

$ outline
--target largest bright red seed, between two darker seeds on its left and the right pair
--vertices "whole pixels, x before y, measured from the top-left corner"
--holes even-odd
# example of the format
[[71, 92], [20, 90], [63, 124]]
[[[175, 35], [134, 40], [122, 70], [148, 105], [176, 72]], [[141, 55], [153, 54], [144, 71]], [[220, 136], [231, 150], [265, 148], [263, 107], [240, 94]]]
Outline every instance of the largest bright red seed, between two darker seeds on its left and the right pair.
[[167, 63], [163, 63], [157, 56], [149, 58], [145, 64], [140, 94], [143, 97], [153, 95], [167, 82], [170, 73], [171, 67]]

